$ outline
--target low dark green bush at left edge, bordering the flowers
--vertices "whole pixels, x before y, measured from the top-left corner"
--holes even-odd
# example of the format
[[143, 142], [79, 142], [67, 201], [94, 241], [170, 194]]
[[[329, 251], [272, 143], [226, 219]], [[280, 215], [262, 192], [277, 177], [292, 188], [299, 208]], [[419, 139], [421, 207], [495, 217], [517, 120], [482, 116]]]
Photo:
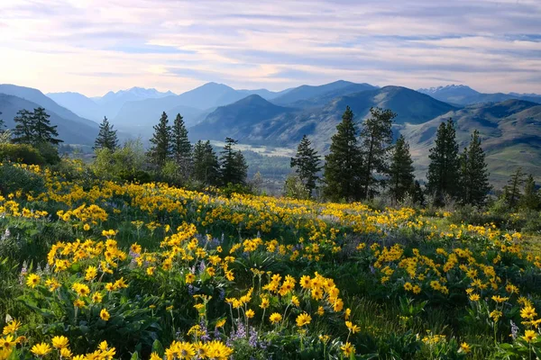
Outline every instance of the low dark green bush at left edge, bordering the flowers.
[[23, 193], [42, 193], [45, 183], [41, 176], [12, 165], [0, 166], [0, 193], [7, 195], [18, 190]]

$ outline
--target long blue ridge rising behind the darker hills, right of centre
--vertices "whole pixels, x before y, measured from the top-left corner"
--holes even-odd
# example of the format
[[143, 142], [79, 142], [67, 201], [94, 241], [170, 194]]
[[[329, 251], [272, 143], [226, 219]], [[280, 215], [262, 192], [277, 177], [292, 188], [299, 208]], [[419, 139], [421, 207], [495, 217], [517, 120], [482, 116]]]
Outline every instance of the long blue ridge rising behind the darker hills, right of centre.
[[372, 90], [375, 88], [375, 86], [369, 84], [354, 84], [344, 80], [338, 80], [334, 83], [325, 85], [301, 85], [290, 89], [286, 94], [280, 94], [280, 96], [272, 100], [272, 103], [276, 103], [279, 105], [292, 105], [295, 103], [307, 101], [309, 99], [312, 99], [314, 102], [316, 102], [317, 98], [323, 97], [325, 95], [327, 95], [327, 100], [330, 100], [328, 99], [329, 95], [335, 97], [344, 94], [353, 94], [363, 90]]

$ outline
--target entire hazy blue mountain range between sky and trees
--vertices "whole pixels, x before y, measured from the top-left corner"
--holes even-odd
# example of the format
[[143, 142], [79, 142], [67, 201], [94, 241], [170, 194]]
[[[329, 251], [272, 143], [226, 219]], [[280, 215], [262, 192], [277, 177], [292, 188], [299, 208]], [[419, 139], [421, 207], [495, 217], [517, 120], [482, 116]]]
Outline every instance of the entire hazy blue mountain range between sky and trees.
[[[541, 177], [541, 95], [483, 94], [466, 85], [417, 91], [402, 86], [375, 86], [344, 80], [326, 85], [301, 85], [281, 92], [235, 90], [207, 83], [183, 94], [155, 89], [109, 92], [89, 98], [78, 93], [42, 94], [39, 90], [0, 85], [0, 112], [8, 127], [21, 108], [43, 106], [60, 137], [69, 143], [92, 144], [97, 122], [107, 116], [116, 129], [132, 136], [151, 137], [151, 127], [167, 112], [181, 113], [190, 139], [238, 139], [254, 146], [295, 148], [304, 134], [326, 154], [346, 106], [360, 123], [371, 107], [398, 114], [396, 136], [408, 139], [417, 175], [426, 175], [428, 148], [441, 121], [452, 117], [463, 147], [472, 130], [481, 132], [493, 181], [503, 182], [517, 166]], [[90, 119], [90, 120], [87, 120]]]

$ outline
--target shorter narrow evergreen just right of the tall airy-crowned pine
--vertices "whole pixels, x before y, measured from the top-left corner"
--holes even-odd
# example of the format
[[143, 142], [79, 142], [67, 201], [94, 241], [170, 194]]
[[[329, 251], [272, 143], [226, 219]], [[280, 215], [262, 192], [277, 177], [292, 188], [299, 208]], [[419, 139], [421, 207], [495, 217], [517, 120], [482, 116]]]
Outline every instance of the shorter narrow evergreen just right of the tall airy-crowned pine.
[[393, 202], [401, 202], [414, 186], [415, 175], [413, 160], [409, 154], [409, 144], [400, 135], [394, 146], [392, 161], [390, 163], [390, 195]]

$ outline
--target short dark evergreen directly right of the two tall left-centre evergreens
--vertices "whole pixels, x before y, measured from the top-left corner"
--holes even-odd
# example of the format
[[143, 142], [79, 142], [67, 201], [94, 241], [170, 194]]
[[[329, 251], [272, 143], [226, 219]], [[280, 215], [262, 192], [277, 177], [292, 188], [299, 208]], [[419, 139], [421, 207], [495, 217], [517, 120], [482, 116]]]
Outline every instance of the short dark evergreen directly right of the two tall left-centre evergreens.
[[220, 179], [220, 165], [210, 141], [197, 141], [194, 146], [194, 167], [192, 177], [207, 185], [217, 185]]

